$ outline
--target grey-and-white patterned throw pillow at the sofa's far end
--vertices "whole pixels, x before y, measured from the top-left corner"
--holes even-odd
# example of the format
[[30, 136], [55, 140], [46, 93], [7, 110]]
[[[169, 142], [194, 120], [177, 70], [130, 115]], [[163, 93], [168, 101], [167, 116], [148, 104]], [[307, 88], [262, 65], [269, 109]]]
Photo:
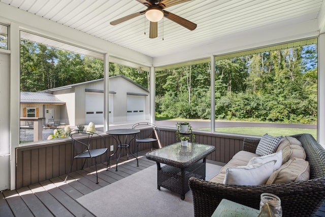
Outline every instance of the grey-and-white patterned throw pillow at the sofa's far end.
[[265, 134], [256, 147], [255, 153], [259, 156], [265, 156], [275, 152], [275, 149], [278, 147], [282, 136], [273, 137], [268, 134]]

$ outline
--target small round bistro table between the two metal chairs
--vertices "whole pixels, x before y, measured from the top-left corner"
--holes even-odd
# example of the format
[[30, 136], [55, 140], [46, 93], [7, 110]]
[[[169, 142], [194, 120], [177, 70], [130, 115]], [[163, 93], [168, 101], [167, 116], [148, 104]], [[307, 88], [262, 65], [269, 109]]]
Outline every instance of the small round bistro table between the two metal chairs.
[[[118, 160], [121, 157], [122, 148], [127, 148], [128, 152], [133, 157], [135, 157], [137, 159], [137, 166], [139, 167], [138, 158], [130, 150], [130, 143], [135, 138], [136, 134], [140, 133], [140, 130], [137, 130], [137, 129], [115, 129], [115, 130], [108, 130], [108, 131], [106, 131], [106, 133], [112, 135], [112, 137], [115, 139], [115, 141], [117, 143], [117, 148], [116, 148], [115, 152], [109, 156], [108, 163], [110, 162], [110, 157], [112, 157], [118, 151], [118, 149], [120, 149], [119, 154], [118, 154], [118, 159], [116, 161], [116, 170], [115, 171], [117, 171], [117, 164], [118, 164]], [[129, 142], [127, 142], [128, 136], [132, 137], [129, 140]], [[124, 141], [123, 141], [123, 137], [125, 137]], [[126, 154], [127, 154], [127, 159], [128, 159], [127, 151], [126, 151]]]

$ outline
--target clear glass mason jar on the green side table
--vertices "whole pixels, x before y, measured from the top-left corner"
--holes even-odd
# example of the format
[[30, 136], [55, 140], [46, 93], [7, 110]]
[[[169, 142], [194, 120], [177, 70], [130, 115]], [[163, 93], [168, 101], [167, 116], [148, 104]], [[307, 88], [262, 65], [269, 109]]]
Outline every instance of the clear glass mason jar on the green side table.
[[259, 211], [262, 211], [266, 203], [269, 204], [275, 217], [282, 217], [281, 200], [278, 196], [270, 193], [262, 193], [261, 202], [259, 203]]

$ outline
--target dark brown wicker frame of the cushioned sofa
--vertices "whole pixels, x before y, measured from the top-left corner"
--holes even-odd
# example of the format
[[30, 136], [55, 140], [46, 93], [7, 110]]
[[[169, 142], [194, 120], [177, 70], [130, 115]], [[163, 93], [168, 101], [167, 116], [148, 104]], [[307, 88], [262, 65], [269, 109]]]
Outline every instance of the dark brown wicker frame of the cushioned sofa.
[[[273, 193], [280, 197], [283, 216], [312, 216], [325, 202], [325, 150], [310, 134], [297, 138], [306, 152], [310, 179], [279, 184], [229, 185], [191, 177], [189, 187], [193, 195], [194, 216], [211, 216], [220, 201], [228, 199], [259, 209], [260, 195]], [[260, 139], [245, 138], [243, 150], [255, 152]]]

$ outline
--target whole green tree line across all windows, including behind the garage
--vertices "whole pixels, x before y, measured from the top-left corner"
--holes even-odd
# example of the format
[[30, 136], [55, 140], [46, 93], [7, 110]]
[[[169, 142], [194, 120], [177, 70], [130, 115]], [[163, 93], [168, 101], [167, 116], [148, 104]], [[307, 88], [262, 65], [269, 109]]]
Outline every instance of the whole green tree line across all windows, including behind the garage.
[[[20, 89], [40, 91], [103, 78], [104, 63], [69, 51], [21, 40]], [[209, 119], [210, 63], [156, 72], [156, 116]], [[149, 73], [109, 64], [149, 88]], [[216, 119], [315, 123], [315, 45], [216, 61]]]

